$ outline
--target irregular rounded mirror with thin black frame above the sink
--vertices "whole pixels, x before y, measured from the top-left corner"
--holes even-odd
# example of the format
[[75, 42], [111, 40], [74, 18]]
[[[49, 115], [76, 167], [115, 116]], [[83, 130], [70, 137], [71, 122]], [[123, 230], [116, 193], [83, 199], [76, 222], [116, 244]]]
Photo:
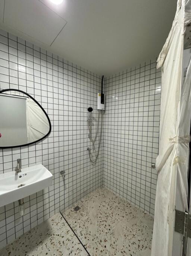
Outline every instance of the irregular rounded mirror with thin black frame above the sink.
[[17, 89], [0, 91], [0, 148], [29, 145], [50, 132], [50, 119], [32, 96]]

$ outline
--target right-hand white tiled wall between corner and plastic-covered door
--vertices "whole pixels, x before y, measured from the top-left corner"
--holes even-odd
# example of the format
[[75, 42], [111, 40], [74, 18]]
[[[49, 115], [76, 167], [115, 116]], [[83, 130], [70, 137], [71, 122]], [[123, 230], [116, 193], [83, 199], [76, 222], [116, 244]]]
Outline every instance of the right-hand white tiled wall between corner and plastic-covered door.
[[104, 186], [154, 214], [161, 72], [156, 59], [106, 79]]

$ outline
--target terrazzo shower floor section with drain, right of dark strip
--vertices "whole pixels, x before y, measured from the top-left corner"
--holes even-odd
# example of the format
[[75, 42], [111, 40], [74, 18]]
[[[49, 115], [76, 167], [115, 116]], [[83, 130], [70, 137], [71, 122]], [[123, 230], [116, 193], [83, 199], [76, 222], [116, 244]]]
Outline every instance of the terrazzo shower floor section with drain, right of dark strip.
[[62, 215], [90, 256], [151, 254], [153, 218], [104, 187]]

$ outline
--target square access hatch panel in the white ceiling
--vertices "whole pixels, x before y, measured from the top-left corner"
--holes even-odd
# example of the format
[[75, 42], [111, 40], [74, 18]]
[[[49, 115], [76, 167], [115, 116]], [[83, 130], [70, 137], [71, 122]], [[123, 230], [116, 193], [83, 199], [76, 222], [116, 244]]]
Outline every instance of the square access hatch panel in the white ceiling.
[[47, 46], [67, 23], [40, 1], [6, 0], [5, 3], [4, 23]]

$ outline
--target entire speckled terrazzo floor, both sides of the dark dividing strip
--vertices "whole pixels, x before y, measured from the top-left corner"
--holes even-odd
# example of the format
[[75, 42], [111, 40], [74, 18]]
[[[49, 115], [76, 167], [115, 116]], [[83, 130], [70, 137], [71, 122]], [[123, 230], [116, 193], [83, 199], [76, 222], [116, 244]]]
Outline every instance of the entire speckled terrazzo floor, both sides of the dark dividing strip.
[[76, 205], [62, 213], [64, 218], [57, 213], [1, 249], [0, 256], [150, 256], [148, 214], [103, 187]]

